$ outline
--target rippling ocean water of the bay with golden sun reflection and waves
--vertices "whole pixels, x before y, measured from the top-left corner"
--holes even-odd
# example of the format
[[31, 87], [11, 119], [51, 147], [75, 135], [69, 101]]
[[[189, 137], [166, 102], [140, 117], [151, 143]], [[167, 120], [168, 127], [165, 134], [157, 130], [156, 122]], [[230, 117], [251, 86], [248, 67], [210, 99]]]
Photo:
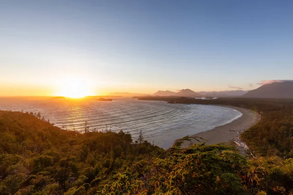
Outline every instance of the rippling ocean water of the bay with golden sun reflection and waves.
[[197, 104], [167, 104], [114, 98], [113, 101], [53, 98], [0, 98], [0, 109], [40, 112], [55, 126], [81, 131], [85, 120], [90, 130], [123, 130], [137, 139], [140, 131], [146, 140], [168, 148], [174, 140], [205, 132], [241, 117], [234, 109]]

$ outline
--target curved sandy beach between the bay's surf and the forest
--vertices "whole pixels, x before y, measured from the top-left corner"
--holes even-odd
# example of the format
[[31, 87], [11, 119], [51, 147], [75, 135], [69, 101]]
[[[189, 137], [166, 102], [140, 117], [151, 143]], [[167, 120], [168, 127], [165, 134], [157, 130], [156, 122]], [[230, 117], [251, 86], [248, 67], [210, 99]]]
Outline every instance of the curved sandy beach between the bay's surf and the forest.
[[[221, 105], [222, 106], [222, 105]], [[198, 133], [192, 135], [191, 137], [202, 137], [206, 139], [207, 144], [215, 144], [219, 142], [228, 142], [233, 140], [236, 142], [238, 147], [246, 149], [246, 145], [239, 139], [239, 135], [245, 130], [249, 129], [253, 126], [260, 118], [260, 116], [246, 108], [234, 107], [234, 106], [224, 106], [235, 109], [242, 113], [242, 116], [233, 120], [232, 122], [215, 127], [212, 130]], [[182, 147], [188, 147], [188, 145], [192, 143], [197, 143], [195, 139], [191, 139], [191, 141], [186, 141]]]

